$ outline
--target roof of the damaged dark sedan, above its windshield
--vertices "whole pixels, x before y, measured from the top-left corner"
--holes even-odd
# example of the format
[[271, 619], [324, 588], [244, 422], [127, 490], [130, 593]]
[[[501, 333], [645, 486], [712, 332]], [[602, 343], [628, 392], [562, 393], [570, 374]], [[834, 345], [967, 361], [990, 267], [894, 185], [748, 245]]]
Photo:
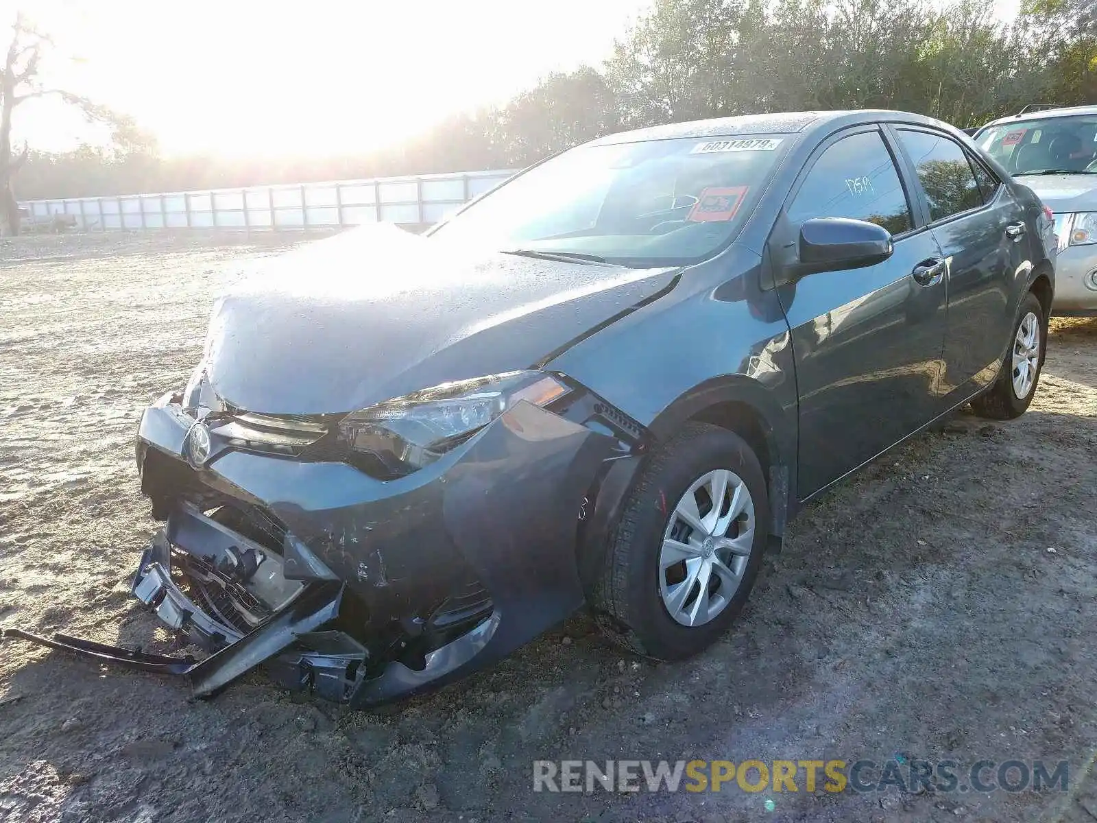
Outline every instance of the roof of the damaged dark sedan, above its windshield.
[[815, 131], [824, 126], [840, 127], [863, 122], [902, 121], [942, 126], [940, 121], [911, 112], [884, 109], [858, 109], [850, 111], [783, 112], [779, 114], [744, 114], [736, 117], [713, 117], [688, 123], [619, 132], [591, 140], [588, 146], [619, 143], [641, 143], [643, 140], [667, 140], [676, 137], [725, 137], [748, 134], [794, 134]]

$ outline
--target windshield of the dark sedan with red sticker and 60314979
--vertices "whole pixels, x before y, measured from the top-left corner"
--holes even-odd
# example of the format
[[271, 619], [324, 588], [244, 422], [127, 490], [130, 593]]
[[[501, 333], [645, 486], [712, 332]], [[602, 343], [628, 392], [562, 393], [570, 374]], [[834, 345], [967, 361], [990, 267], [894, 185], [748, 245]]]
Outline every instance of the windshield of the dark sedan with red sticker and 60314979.
[[514, 178], [433, 234], [499, 251], [675, 266], [738, 232], [781, 135], [580, 146]]

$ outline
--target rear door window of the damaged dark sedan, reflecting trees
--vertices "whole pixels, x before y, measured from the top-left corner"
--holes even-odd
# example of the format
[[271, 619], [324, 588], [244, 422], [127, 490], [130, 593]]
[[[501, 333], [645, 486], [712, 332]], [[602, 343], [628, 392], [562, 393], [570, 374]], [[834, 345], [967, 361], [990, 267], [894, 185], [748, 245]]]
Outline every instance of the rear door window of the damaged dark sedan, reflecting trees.
[[898, 138], [918, 173], [931, 221], [983, 205], [983, 194], [960, 145], [943, 135], [901, 128]]

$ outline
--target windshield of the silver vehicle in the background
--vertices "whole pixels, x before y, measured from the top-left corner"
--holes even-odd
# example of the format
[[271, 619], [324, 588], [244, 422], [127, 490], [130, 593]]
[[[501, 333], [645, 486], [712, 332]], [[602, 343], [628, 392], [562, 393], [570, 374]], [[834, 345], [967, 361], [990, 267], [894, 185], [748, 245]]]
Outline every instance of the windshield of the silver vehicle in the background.
[[1097, 171], [1097, 116], [1092, 114], [992, 126], [975, 143], [1017, 176]]

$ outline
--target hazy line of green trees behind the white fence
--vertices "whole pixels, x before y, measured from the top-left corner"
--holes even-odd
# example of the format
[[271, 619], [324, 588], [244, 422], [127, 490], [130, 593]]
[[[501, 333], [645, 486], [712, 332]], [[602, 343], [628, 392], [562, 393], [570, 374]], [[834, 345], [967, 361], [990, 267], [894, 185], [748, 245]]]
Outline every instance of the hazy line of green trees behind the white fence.
[[513, 168], [598, 135], [776, 111], [885, 108], [973, 126], [1033, 103], [1097, 102], [1097, 0], [653, 0], [600, 68], [398, 148], [241, 162], [160, 157], [132, 122], [111, 149], [31, 153], [23, 199]]

